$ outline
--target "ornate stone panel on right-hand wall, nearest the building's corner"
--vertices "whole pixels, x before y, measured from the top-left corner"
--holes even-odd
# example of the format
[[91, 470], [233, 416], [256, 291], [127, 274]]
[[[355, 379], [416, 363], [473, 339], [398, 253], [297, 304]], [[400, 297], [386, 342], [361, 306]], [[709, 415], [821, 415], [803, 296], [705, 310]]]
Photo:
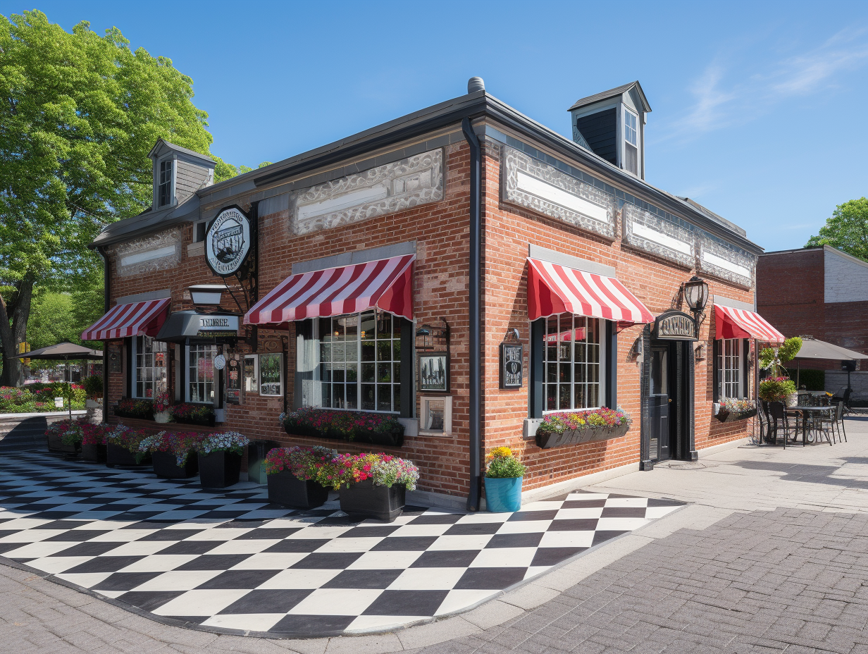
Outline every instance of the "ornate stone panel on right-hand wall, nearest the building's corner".
[[504, 147], [503, 201], [615, 238], [615, 195]]

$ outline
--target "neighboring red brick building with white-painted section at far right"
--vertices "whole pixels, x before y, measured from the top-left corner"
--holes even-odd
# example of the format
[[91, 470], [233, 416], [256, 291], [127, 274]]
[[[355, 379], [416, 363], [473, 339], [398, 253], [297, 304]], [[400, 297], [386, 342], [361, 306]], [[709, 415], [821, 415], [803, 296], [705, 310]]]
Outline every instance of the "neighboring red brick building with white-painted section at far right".
[[[868, 262], [836, 248], [760, 255], [757, 307], [788, 338], [809, 335], [868, 353]], [[825, 370], [825, 390], [831, 393], [846, 386], [847, 374], [838, 361], [812, 361], [802, 367]], [[866, 376], [865, 371], [852, 373], [854, 399], [868, 400]]]

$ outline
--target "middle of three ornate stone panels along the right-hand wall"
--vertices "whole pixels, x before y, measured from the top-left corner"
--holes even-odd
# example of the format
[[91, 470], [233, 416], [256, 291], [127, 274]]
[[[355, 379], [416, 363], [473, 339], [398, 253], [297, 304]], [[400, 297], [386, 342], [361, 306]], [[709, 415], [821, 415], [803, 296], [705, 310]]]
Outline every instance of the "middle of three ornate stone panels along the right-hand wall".
[[625, 203], [621, 208], [624, 241], [637, 248], [693, 268], [696, 261], [694, 232]]

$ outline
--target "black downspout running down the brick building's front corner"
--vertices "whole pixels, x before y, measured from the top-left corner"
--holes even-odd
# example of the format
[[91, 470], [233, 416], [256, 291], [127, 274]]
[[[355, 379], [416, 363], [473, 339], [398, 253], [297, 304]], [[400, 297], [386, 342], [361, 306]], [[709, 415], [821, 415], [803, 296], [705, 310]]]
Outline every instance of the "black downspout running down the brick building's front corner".
[[479, 320], [479, 272], [481, 259], [481, 209], [482, 165], [480, 162], [479, 139], [470, 125], [470, 119], [461, 122], [464, 138], [470, 145], [470, 492], [467, 495], [467, 510], [478, 511], [482, 495], [479, 450], [480, 439], [480, 378], [482, 354], [480, 353]]

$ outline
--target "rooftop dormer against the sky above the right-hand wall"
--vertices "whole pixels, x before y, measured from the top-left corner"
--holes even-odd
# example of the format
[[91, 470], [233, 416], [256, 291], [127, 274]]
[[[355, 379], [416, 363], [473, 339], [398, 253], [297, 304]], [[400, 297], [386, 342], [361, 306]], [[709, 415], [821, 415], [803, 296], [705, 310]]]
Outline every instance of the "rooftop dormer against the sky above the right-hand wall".
[[569, 108], [573, 141], [645, 179], [645, 122], [650, 111], [638, 82], [583, 97]]

